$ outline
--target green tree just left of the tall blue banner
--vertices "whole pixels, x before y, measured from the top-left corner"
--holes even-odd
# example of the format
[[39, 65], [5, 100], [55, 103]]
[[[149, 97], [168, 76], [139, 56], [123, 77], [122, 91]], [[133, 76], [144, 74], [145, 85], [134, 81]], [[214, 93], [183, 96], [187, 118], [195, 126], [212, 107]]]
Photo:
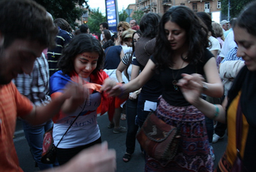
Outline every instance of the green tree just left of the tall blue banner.
[[107, 22], [107, 18], [106, 16], [102, 15], [102, 13], [99, 11], [99, 8], [90, 10], [87, 25], [91, 33], [95, 31], [97, 33], [100, 33], [99, 28], [100, 28], [100, 23], [102, 22]]

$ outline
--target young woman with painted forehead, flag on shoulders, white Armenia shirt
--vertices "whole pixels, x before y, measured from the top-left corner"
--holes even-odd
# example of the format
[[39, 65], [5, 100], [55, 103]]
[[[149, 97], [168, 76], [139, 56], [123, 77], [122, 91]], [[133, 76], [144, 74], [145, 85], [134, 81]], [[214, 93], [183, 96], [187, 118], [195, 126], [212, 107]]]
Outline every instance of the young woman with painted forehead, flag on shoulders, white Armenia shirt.
[[[101, 143], [100, 129], [97, 124], [97, 110], [101, 103], [108, 103], [105, 94], [99, 91], [103, 80], [108, 75], [101, 70], [104, 52], [100, 42], [89, 34], [79, 34], [66, 46], [58, 62], [60, 69], [50, 78], [50, 96], [58, 98], [69, 87], [69, 83], [83, 85], [89, 90], [89, 97], [78, 108], [65, 102], [65, 109], [53, 119], [54, 145], [57, 146], [63, 134], [68, 132], [58, 144], [57, 159], [59, 164], [65, 164], [82, 149]], [[105, 97], [105, 98], [104, 98]], [[104, 101], [104, 102], [102, 102]], [[113, 108], [114, 109], [114, 108]], [[101, 113], [108, 109], [101, 108]]]

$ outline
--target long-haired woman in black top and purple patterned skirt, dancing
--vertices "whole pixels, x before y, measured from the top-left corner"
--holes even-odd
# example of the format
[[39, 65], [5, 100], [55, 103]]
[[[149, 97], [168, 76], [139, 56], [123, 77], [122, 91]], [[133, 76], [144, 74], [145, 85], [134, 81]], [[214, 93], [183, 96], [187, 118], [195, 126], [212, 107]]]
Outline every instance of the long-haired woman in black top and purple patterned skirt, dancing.
[[[112, 95], [132, 92], [154, 74], [164, 87], [156, 116], [173, 126], [181, 126], [181, 139], [176, 156], [172, 160], [156, 160], [145, 156], [145, 172], [202, 171], [213, 170], [204, 114], [186, 101], [178, 80], [182, 73], [204, 85], [203, 93], [221, 97], [223, 86], [218, 75], [215, 58], [207, 50], [208, 29], [186, 6], [170, 8], [161, 18], [156, 37], [155, 53], [140, 75], [123, 86], [113, 86], [106, 81], [103, 88]], [[207, 82], [203, 82], [205, 75]], [[112, 84], [112, 85], [111, 85]]]

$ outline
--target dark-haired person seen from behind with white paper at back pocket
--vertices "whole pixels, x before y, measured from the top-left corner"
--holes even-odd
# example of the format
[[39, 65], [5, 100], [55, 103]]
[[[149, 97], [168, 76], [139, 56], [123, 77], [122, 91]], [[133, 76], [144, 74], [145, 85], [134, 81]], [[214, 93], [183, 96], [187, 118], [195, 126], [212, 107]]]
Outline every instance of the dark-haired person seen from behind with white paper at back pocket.
[[[136, 42], [136, 45], [135, 45], [136, 58], [133, 58], [133, 61], [132, 61], [133, 66], [134, 67], [136, 66], [136, 68], [139, 68], [140, 70], [144, 69], [150, 56], [154, 52], [155, 36], [158, 32], [158, 28], [155, 26], [158, 25], [159, 21], [160, 21], [160, 16], [156, 13], [148, 13], [144, 15], [142, 20], [140, 21], [140, 29], [142, 31], [142, 36]], [[154, 74], [153, 77], [149, 81], [147, 81], [142, 87], [142, 90], [138, 97], [138, 106], [137, 106], [138, 117], [136, 119], [136, 123], [139, 126], [142, 126], [143, 122], [145, 121], [150, 111], [149, 108], [145, 109], [144, 105], [148, 106], [146, 102], [150, 102], [151, 103], [151, 105], [149, 105], [150, 109], [155, 110], [156, 105], [159, 102], [158, 97], [162, 94], [162, 90], [163, 89], [162, 89], [162, 85], [160, 84], [158, 74]]]

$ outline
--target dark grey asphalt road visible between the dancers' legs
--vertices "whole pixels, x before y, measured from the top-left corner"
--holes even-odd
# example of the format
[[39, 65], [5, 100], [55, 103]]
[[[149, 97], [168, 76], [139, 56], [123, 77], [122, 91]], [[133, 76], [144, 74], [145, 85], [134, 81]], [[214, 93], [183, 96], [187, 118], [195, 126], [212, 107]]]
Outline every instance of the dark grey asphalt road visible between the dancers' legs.
[[[117, 152], [117, 172], [143, 172], [144, 170], [144, 157], [140, 151], [139, 144], [136, 144], [135, 152], [132, 159], [125, 163], [122, 160], [122, 156], [126, 151], [125, 140], [126, 133], [114, 134], [112, 129], [108, 129], [109, 123], [108, 116], [103, 115], [98, 117], [98, 124], [101, 130], [102, 141], [107, 141], [110, 148], [113, 148]], [[122, 126], [126, 126], [126, 121], [121, 121]], [[39, 171], [38, 167], [34, 167], [34, 161], [29, 151], [27, 141], [25, 139], [21, 121], [17, 121], [14, 143], [17, 150], [20, 166], [25, 172]], [[214, 166], [217, 165], [223, 151], [226, 148], [226, 137], [217, 143], [213, 144], [216, 160]]]

